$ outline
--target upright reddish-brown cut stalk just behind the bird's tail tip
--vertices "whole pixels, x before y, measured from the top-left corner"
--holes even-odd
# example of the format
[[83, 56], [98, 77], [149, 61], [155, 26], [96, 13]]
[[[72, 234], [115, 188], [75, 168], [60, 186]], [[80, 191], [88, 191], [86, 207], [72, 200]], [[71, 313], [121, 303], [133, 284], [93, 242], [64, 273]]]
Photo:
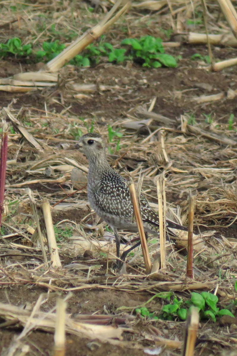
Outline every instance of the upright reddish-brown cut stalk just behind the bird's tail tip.
[[189, 218], [188, 218], [188, 256], [186, 276], [193, 278], [193, 218], [194, 218], [194, 195], [189, 195]]

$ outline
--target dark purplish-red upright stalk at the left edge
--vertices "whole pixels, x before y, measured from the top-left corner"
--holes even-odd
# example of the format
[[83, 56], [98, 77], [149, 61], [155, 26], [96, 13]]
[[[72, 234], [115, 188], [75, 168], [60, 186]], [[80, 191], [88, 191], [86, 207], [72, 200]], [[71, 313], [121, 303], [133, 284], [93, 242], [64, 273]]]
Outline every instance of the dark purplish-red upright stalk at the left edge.
[[2, 205], [4, 203], [6, 161], [7, 161], [7, 132], [6, 121], [2, 121], [2, 142], [1, 142], [1, 161], [0, 161], [0, 227], [2, 222]]

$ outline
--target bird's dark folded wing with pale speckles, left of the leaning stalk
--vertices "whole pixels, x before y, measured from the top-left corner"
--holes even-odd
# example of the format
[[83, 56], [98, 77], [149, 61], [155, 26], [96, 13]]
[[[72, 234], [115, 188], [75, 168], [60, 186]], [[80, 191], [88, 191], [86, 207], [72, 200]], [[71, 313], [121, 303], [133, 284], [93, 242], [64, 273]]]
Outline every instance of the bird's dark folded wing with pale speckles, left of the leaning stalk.
[[117, 172], [111, 170], [102, 174], [98, 189], [94, 190], [98, 208], [106, 214], [120, 218], [132, 218], [133, 208], [128, 182]]

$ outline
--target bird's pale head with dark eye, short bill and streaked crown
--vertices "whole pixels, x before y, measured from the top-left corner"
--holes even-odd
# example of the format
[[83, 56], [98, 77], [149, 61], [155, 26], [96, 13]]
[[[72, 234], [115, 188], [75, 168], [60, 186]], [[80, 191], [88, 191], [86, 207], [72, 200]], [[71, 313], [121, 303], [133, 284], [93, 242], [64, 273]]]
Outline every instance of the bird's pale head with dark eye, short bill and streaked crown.
[[98, 133], [86, 133], [74, 146], [90, 160], [105, 155], [105, 143]]

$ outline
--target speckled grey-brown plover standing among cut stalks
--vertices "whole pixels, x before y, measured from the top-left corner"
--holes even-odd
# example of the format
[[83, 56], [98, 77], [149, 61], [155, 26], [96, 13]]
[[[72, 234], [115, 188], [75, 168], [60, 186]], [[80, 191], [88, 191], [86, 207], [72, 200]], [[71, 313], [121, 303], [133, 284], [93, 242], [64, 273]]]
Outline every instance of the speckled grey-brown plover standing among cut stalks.
[[[106, 158], [105, 141], [98, 133], [86, 133], [80, 137], [74, 147], [88, 159], [88, 201], [91, 208], [110, 225], [114, 232], [119, 266], [121, 261], [122, 263], [125, 261], [127, 254], [141, 244], [138, 241], [124, 251], [120, 258], [120, 237], [117, 230], [138, 231], [136, 221], [133, 219], [129, 182], [110, 167]], [[148, 233], [159, 234], [159, 217], [149, 206], [143, 194], [139, 197], [139, 203], [146, 239]], [[173, 236], [174, 233], [169, 229], [187, 231], [185, 226], [170, 220], [166, 220], [166, 229]]]

